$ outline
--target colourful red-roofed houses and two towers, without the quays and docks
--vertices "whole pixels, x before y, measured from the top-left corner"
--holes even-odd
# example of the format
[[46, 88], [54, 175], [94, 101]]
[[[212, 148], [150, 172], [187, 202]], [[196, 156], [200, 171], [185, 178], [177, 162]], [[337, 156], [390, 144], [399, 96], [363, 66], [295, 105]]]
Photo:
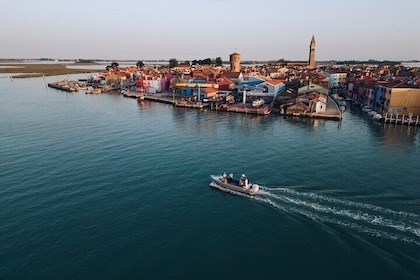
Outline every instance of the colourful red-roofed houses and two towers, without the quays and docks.
[[420, 116], [419, 68], [389, 63], [317, 65], [315, 47], [312, 36], [308, 61], [241, 65], [241, 55], [234, 52], [229, 66], [183, 63], [173, 68], [117, 68], [102, 74], [108, 85], [133, 80], [137, 91], [178, 92], [185, 99], [217, 100], [225, 107], [240, 102], [246, 108], [263, 100], [284, 114], [329, 117], [340, 113], [341, 117], [347, 97], [382, 115]]

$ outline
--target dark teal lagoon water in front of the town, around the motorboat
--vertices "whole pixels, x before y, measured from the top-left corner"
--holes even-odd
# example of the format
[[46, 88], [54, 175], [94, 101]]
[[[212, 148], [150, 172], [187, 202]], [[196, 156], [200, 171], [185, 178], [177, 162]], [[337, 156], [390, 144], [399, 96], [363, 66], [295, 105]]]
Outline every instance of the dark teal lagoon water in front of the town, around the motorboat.
[[46, 87], [78, 77], [0, 79], [1, 279], [420, 278], [418, 128]]

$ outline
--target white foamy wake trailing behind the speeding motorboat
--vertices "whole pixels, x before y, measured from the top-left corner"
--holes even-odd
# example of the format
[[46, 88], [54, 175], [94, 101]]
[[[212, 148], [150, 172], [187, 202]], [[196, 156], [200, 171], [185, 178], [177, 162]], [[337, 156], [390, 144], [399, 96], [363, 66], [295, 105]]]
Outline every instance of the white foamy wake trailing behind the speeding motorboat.
[[370, 236], [420, 246], [420, 216], [372, 204], [337, 199], [291, 188], [261, 187], [252, 197], [287, 212]]

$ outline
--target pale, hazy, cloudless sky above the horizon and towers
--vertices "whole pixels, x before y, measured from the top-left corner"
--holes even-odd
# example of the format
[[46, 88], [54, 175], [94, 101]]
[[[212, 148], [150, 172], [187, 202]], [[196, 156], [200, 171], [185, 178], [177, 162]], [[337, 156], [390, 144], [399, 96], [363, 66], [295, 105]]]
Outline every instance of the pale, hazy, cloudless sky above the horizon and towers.
[[0, 58], [420, 60], [420, 0], [13, 0]]

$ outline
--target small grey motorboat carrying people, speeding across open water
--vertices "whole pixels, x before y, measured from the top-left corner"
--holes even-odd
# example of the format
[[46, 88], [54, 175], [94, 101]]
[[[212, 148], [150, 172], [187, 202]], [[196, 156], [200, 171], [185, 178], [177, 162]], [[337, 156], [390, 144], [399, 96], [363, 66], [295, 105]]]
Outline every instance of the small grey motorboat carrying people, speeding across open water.
[[233, 174], [229, 176], [224, 173], [223, 175], [210, 175], [213, 180], [210, 186], [228, 189], [232, 191], [241, 192], [248, 195], [254, 195], [260, 189], [258, 184], [253, 184], [248, 181], [248, 178], [242, 174], [239, 180], [233, 178]]

